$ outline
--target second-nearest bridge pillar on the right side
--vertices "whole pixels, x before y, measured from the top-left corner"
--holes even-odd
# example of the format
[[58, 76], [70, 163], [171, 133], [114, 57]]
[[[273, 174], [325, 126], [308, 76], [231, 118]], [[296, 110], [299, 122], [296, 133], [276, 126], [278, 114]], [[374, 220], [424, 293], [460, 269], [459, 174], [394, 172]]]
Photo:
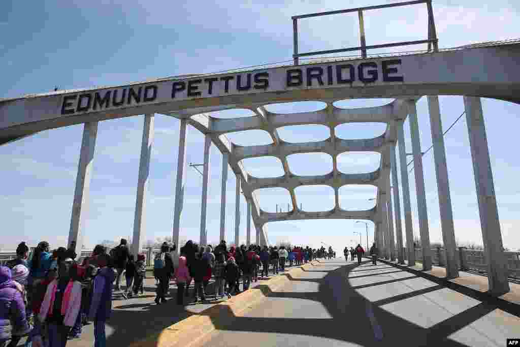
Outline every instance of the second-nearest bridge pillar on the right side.
[[[448, 166], [446, 164], [446, 149], [444, 147], [443, 125], [440, 121], [438, 96], [427, 96], [430, 125], [432, 128], [433, 156], [435, 159], [435, 174], [437, 176], [437, 194], [439, 196], [440, 225], [443, 231], [443, 243], [446, 251], [446, 277], [459, 277], [457, 266], [457, 245], [453, 228], [453, 211], [451, 209]], [[439, 256], [440, 260], [440, 256]]]

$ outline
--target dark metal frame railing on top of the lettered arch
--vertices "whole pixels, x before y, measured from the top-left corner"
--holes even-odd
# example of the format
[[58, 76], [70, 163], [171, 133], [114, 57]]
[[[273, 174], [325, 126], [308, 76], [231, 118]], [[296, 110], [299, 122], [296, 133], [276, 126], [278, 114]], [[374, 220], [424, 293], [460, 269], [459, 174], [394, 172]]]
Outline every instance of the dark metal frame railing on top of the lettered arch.
[[[382, 44], [382, 45], [367, 46], [367, 43], [365, 41], [365, 24], [363, 22], [363, 11], [389, 8], [389, 7], [398, 7], [398, 6], [418, 5], [418, 4], [426, 4], [427, 10], [428, 10], [428, 38], [426, 40], [394, 42], [394, 43], [386, 43], [386, 44]], [[298, 52], [298, 19], [338, 15], [338, 14], [345, 14], [345, 13], [349, 13], [349, 12], [358, 12], [359, 41], [360, 41], [359, 46], [340, 48], [340, 49], [316, 50], [314, 52], [306, 52], [306, 53]], [[344, 10], [318, 12], [318, 13], [307, 14], [307, 15], [292, 16], [291, 18], [293, 20], [293, 49], [294, 49], [293, 62], [294, 62], [294, 65], [298, 65], [298, 63], [299, 63], [298, 58], [300, 58], [300, 57], [307, 57], [307, 56], [320, 55], [320, 54], [333, 54], [333, 53], [353, 52], [353, 51], [360, 50], [361, 58], [367, 58], [368, 49], [409, 46], [409, 45], [418, 45], [418, 44], [424, 44], [424, 43], [428, 44], [428, 51], [430, 51], [432, 45], [433, 45], [434, 52], [437, 52], [439, 49], [438, 40], [437, 40], [437, 31], [435, 29], [435, 20], [433, 17], [432, 0], [416, 0], [416, 1], [407, 1], [407, 2], [394, 3], [394, 4], [357, 7], [357, 8], [350, 8], [350, 9], [344, 9]]]

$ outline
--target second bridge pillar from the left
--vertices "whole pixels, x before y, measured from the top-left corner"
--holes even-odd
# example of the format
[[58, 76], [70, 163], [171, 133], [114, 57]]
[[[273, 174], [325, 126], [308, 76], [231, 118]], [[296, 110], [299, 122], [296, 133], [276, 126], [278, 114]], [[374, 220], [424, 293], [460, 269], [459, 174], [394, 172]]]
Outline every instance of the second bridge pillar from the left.
[[137, 196], [135, 200], [134, 235], [132, 238], [132, 254], [137, 258], [141, 251], [142, 230], [146, 228], [146, 195], [148, 192], [148, 176], [150, 157], [153, 145], [153, 114], [145, 114], [142, 125], [141, 158], [139, 159], [139, 176], [137, 179]]

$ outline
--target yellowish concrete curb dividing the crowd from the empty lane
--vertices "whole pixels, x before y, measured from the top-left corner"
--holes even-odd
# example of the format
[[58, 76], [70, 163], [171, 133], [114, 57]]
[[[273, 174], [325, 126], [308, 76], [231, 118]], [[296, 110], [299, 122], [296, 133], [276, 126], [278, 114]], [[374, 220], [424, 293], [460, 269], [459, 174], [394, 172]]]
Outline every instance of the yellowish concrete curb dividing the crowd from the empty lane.
[[[251, 288], [242, 292], [231, 299], [215, 304], [198, 314], [192, 314], [186, 319], [181, 320], [162, 331], [154, 333], [152, 336], [131, 344], [131, 347], [188, 347], [197, 343], [207, 334], [215, 330], [218, 326], [231, 323], [232, 319], [240, 316], [244, 311], [254, 304], [265, 299], [269, 292], [274, 292], [278, 288], [287, 284], [290, 280], [287, 275], [294, 276], [310, 265], [317, 265], [313, 261], [298, 267], [289, 269], [288, 272], [276, 277], [272, 277], [265, 282], [266, 289]], [[265, 287], [264, 287], [265, 288]]]

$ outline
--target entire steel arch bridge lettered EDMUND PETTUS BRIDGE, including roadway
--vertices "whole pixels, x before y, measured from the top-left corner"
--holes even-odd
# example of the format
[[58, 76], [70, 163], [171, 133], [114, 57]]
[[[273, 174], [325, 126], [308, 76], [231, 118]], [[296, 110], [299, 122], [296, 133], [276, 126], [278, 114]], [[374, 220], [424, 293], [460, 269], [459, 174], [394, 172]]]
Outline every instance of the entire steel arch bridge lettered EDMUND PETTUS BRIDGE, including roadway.
[[[377, 8], [426, 4], [428, 37], [425, 40], [367, 45], [363, 13]], [[301, 53], [298, 51], [298, 20], [357, 12], [360, 23], [358, 47]], [[133, 234], [134, 253], [142, 248], [141, 230], [153, 143], [154, 114], [180, 120], [178, 163], [173, 211], [173, 242], [178, 244], [187, 171], [186, 128], [204, 134], [200, 245], [206, 245], [206, 201], [209, 153], [213, 145], [222, 153], [222, 206], [220, 239], [225, 238], [226, 181], [228, 165], [237, 177], [236, 199], [247, 201], [246, 242], [269, 245], [267, 224], [274, 221], [355, 219], [375, 225], [374, 240], [381, 250], [376, 265], [363, 259], [314, 260], [286, 269], [281, 275], [255, 282], [252, 289], [224, 302], [203, 305], [150, 305], [153, 281], [147, 279], [144, 297], [114, 302], [107, 323], [108, 345], [456, 345], [501, 346], [506, 338], [520, 338], [520, 277], [518, 253], [504, 252], [486, 130], [480, 98], [520, 104], [520, 40], [487, 42], [462, 47], [438, 48], [430, 0], [371, 6], [295, 16], [293, 63], [237, 69], [217, 74], [191, 74], [111, 87], [62, 90], [0, 99], [0, 144], [37, 132], [84, 124], [77, 172], [69, 243], [78, 240], [86, 218], [98, 123], [142, 115], [141, 155]], [[427, 44], [423, 51], [370, 55], [374, 48]], [[359, 52], [353, 58], [302, 57], [340, 52]], [[472, 264], [475, 252], [456, 246], [448, 168], [440, 122], [439, 95], [463, 96], [467, 131], [484, 242], [479, 255], [480, 273]], [[355, 98], [393, 98], [380, 107], [343, 109], [334, 102]], [[428, 235], [422, 155], [416, 102], [427, 98], [433, 138], [436, 183], [443, 249], [431, 249]], [[274, 113], [266, 105], [321, 101], [322, 109], [300, 113]], [[254, 115], [233, 119], [213, 117], [217, 111], [250, 110]], [[420, 248], [413, 243], [412, 214], [403, 124], [409, 119], [415, 186], [417, 189]], [[367, 139], [341, 139], [335, 127], [344, 123], [384, 123], [384, 134]], [[320, 124], [330, 128], [325, 140], [289, 143], [278, 128]], [[238, 146], [226, 134], [264, 130], [269, 145]], [[396, 160], [399, 151], [399, 161]], [[380, 153], [374, 172], [345, 174], [337, 168], [344, 152]], [[287, 157], [294, 153], [327, 153], [333, 170], [319, 176], [291, 172]], [[242, 160], [278, 158], [284, 174], [255, 177]], [[401, 182], [398, 182], [400, 171]], [[391, 174], [392, 173], [392, 174]], [[349, 185], [377, 187], [375, 207], [349, 211], [340, 207], [340, 188]], [[335, 205], [329, 211], [307, 212], [298, 208], [295, 189], [306, 185], [329, 186]], [[290, 194], [287, 212], [266, 212], [255, 191], [282, 187]], [[391, 191], [392, 189], [392, 191]], [[392, 195], [394, 201], [392, 201]], [[402, 195], [403, 205], [400, 205]], [[404, 213], [401, 212], [401, 208]], [[237, 204], [235, 244], [239, 242], [240, 211]], [[404, 215], [404, 223], [401, 221]], [[404, 230], [402, 225], [404, 224]], [[403, 233], [406, 233], [406, 245]], [[70, 246], [70, 244], [69, 244]], [[334, 245], [343, 248], [345, 245]], [[482, 275], [482, 271], [485, 275]], [[92, 345], [92, 329], [69, 342]], [[90, 335], [88, 335], [90, 334]], [[89, 337], [90, 336], [90, 340]]]

